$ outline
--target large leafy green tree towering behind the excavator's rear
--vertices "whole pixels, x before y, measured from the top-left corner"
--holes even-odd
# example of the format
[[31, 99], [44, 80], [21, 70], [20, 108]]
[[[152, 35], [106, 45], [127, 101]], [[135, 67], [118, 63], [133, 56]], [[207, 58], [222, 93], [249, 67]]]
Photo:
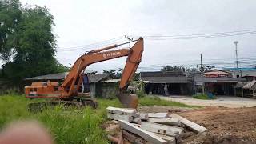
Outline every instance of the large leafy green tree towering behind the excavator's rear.
[[54, 54], [54, 18], [46, 7], [24, 6], [18, 0], [0, 2], [2, 73], [12, 82], [66, 70]]

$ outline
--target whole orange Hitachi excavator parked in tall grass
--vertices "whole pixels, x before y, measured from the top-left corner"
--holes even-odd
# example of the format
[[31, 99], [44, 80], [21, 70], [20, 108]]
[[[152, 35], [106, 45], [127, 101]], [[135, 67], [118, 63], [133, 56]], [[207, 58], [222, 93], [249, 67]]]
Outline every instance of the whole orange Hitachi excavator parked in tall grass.
[[135, 42], [131, 48], [110, 50], [130, 43], [126, 42], [103, 47], [98, 50], [91, 50], [83, 54], [74, 62], [69, 74], [67, 74], [61, 85], [58, 82], [33, 82], [31, 86], [25, 86], [26, 98], [51, 98], [51, 102], [96, 107], [96, 102], [93, 98], [90, 98], [89, 78], [84, 73], [86, 67], [97, 62], [127, 56], [117, 97], [123, 106], [136, 108], [138, 106], [138, 96], [136, 94], [126, 94], [126, 89], [142, 60], [144, 44], [143, 38], [138, 38], [131, 42]]

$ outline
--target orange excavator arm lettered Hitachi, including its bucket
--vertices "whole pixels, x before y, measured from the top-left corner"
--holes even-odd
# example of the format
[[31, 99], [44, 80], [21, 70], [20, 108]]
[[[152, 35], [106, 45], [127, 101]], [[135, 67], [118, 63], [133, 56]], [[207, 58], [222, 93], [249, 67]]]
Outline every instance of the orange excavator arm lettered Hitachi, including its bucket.
[[[122, 44], [121, 44], [122, 45]], [[72, 97], [77, 94], [78, 86], [75, 86], [77, 78], [91, 64], [107, 61], [114, 58], [128, 56], [126, 59], [126, 66], [122, 72], [122, 78], [119, 83], [118, 99], [122, 105], [126, 107], [137, 107], [138, 98], [135, 94], [126, 94], [126, 88], [129, 86], [139, 63], [142, 60], [142, 52], [144, 49], [143, 38], [138, 38], [132, 48], [122, 48], [119, 50], [110, 50], [117, 48], [120, 45], [108, 46], [98, 50], [92, 50], [76, 60], [72, 66], [70, 73], [66, 76], [64, 82], [59, 86], [61, 98]]]

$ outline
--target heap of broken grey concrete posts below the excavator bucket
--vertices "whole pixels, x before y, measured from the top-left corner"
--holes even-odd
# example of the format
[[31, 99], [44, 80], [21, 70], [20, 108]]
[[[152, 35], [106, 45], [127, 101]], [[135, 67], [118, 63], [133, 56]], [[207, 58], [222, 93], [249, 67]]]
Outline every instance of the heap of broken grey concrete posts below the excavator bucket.
[[190, 122], [178, 114], [139, 113], [135, 109], [107, 107], [107, 117], [118, 121], [121, 129], [119, 138], [108, 135], [110, 141], [121, 144], [124, 139], [130, 143], [171, 143], [180, 142], [182, 134], [189, 128], [202, 133], [206, 128]]

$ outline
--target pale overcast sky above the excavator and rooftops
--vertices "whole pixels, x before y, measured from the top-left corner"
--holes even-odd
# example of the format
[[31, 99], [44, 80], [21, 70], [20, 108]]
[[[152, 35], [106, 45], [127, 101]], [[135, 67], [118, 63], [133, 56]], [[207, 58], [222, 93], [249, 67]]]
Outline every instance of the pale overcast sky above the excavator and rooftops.
[[[152, 35], [211, 34], [256, 29], [254, 0], [21, 0], [22, 4], [46, 6], [54, 15], [54, 34], [58, 36], [58, 62], [70, 66], [86, 46], [129, 34], [145, 36], [141, 70], [157, 70], [166, 64], [196, 66], [202, 53], [204, 63], [234, 62], [234, 41], [240, 61], [256, 61], [256, 34], [218, 38], [165, 39]], [[109, 43], [106, 43], [109, 44]], [[78, 48], [85, 46], [86, 48]], [[101, 46], [101, 45], [99, 45]], [[89, 70], [123, 67], [126, 58], [100, 62]], [[70, 64], [69, 64], [70, 63]], [[251, 64], [251, 63], [250, 63]], [[242, 65], [242, 64], [241, 64]], [[217, 65], [216, 65], [217, 66]], [[234, 64], [226, 65], [233, 67]], [[218, 66], [222, 67], [222, 66]]]

